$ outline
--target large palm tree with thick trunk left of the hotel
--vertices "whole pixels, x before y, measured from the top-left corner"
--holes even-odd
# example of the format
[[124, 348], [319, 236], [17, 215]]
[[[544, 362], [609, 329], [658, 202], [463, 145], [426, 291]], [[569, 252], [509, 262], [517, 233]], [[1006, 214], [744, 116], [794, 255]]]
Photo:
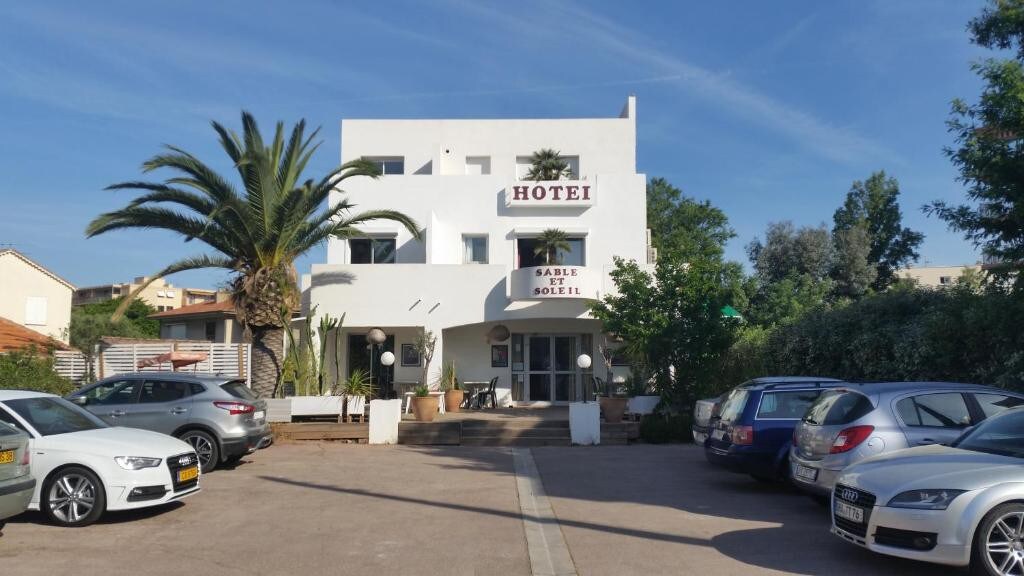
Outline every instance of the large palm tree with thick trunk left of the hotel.
[[[162, 182], [127, 181], [108, 187], [143, 194], [124, 208], [97, 216], [86, 229], [86, 236], [119, 229], [163, 229], [183, 236], [185, 242], [199, 240], [211, 248], [213, 254], [178, 260], [150, 281], [186, 270], [230, 271], [236, 313], [253, 344], [253, 387], [260, 396], [269, 397], [285, 359], [284, 329], [299, 307], [295, 258], [330, 238], [359, 236], [356, 225], [370, 220], [394, 220], [414, 237], [421, 235], [412, 218], [395, 210], [352, 214], [353, 206], [344, 198], [322, 209], [331, 192], [346, 178], [376, 177], [380, 172], [369, 161], [353, 160], [318, 180], [302, 180], [302, 172], [319, 146], [313, 143], [319, 129], [307, 136], [305, 120], [292, 128], [287, 141], [284, 124], [279, 122], [269, 146], [248, 112], [242, 113], [241, 136], [217, 122], [212, 125], [238, 171], [243, 194], [199, 158], [168, 146], [167, 152], [143, 163], [142, 171], [167, 168], [174, 174]], [[124, 301], [131, 302], [135, 293]]]

